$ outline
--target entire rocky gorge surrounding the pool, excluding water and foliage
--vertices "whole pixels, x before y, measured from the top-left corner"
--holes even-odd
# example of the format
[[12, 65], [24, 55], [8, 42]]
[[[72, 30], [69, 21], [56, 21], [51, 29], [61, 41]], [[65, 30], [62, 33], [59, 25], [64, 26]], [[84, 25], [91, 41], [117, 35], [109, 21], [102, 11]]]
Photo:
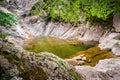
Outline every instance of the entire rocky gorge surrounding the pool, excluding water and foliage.
[[[1, 11], [19, 17], [19, 24], [16, 26], [0, 26], [0, 34], [9, 34], [5, 39], [0, 39], [1, 80], [120, 80], [118, 14], [114, 15], [112, 28], [97, 25], [90, 27], [89, 22], [76, 27], [70, 23], [53, 22], [49, 18], [27, 16], [36, 2], [37, 0], [0, 2]], [[38, 36], [96, 41], [100, 49], [112, 51], [114, 55], [100, 60], [95, 66], [88, 66], [82, 65], [88, 60], [83, 54], [77, 54], [71, 59], [61, 59], [49, 52], [35, 54], [24, 50], [25, 42]]]

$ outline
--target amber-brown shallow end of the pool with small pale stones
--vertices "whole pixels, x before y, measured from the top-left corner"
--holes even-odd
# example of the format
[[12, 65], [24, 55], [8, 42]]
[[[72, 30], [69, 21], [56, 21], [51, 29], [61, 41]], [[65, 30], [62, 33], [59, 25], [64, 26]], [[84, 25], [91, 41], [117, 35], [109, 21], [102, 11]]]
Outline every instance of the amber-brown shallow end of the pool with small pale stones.
[[76, 63], [78, 63], [77, 65], [95, 66], [99, 60], [113, 57], [115, 56], [112, 52], [108, 50], [101, 50], [99, 47], [95, 46], [89, 48], [88, 50], [77, 52], [69, 58], [71, 58], [71, 61], [76, 61]]

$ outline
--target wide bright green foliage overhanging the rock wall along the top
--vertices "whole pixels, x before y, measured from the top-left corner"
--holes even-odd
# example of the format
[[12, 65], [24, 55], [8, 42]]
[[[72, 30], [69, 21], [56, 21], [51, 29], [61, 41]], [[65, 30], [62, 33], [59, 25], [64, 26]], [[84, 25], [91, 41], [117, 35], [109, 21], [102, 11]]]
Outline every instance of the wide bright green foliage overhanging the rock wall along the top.
[[120, 12], [120, 0], [43, 0], [31, 9], [30, 15], [50, 16], [52, 20], [80, 23], [80, 16], [92, 23], [108, 25]]

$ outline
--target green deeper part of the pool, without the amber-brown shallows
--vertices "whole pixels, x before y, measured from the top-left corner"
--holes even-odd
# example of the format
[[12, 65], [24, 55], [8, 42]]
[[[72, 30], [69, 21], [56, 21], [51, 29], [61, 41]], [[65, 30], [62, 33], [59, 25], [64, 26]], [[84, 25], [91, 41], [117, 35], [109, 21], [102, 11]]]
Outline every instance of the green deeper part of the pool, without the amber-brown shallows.
[[32, 52], [51, 52], [61, 58], [67, 58], [79, 51], [86, 50], [93, 45], [84, 45], [77, 40], [63, 40], [53, 37], [39, 37], [30, 43], [25, 43], [24, 48]]

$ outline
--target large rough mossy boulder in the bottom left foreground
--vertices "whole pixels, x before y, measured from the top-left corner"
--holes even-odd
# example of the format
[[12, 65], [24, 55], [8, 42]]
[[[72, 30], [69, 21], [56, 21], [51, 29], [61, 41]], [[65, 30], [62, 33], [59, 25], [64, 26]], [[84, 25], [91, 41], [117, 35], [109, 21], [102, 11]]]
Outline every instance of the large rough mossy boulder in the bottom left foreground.
[[35, 54], [0, 40], [0, 77], [9, 80], [76, 80], [75, 68], [52, 53]]

